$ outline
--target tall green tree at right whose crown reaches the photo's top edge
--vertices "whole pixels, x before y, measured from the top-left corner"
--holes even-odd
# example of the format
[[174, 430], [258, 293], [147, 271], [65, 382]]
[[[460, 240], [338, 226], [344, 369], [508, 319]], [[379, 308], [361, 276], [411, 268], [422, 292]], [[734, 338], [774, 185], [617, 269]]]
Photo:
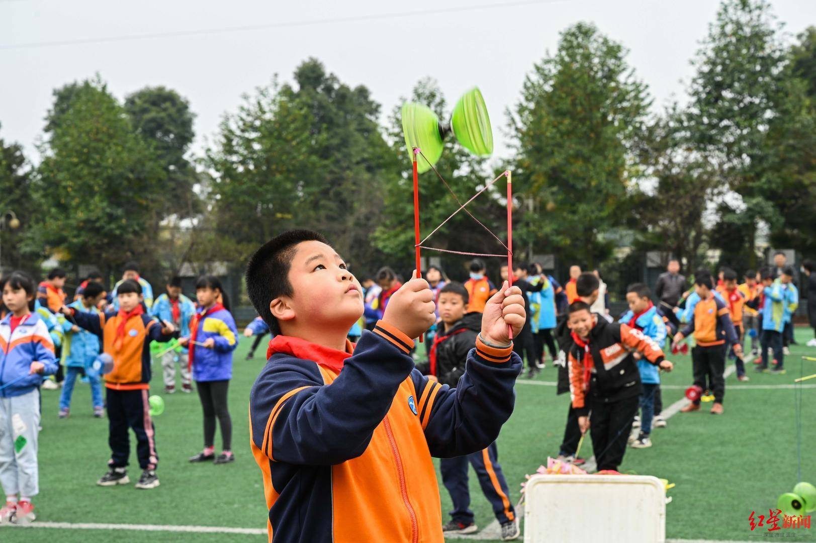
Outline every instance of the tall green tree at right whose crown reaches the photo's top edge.
[[[724, 0], [694, 60], [689, 125], [694, 149], [716, 164], [721, 185], [738, 194], [719, 203], [721, 222], [743, 228], [743, 254], [756, 265], [756, 228], [783, 218], [769, 200], [768, 132], [783, 99], [786, 51], [765, 0]], [[714, 236], [716, 247], [734, 250]], [[729, 243], [728, 247], [723, 247]]]

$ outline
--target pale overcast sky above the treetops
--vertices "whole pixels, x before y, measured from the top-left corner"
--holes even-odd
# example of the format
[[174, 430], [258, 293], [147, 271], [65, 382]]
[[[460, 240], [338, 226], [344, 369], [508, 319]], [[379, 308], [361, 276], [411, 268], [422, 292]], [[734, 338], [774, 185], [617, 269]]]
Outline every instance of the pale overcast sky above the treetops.
[[[268, 84], [274, 73], [290, 80], [296, 65], [316, 56], [343, 82], [366, 85], [384, 115], [424, 76], [437, 78], [451, 103], [478, 85], [504, 154], [504, 110], [518, 100], [534, 62], [555, 50], [561, 30], [588, 20], [623, 42], [661, 108], [672, 96], [685, 100], [690, 59], [718, 3], [0, 0], [0, 137], [19, 141], [38, 161], [33, 144], [51, 91], [99, 72], [120, 99], [148, 85], [187, 97], [197, 114], [193, 150], [200, 150], [243, 93]], [[772, 6], [787, 33], [816, 24], [814, 0]], [[196, 32], [214, 29], [221, 31]], [[165, 33], [175, 35], [156, 35]], [[119, 39], [145, 34], [152, 37]], [[83, 43], [65, 43], [77, 41]]]

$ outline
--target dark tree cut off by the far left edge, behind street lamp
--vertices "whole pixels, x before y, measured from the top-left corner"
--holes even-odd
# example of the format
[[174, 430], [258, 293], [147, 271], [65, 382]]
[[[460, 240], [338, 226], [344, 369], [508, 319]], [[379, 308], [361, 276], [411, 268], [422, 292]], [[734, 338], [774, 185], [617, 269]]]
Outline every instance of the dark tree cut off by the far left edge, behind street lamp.
[[[14, 221], [16, 216], [19, 224]], [[0, 270], [37, 270], [39, 251], [23, 251], [22, 240], [27, 234], [35, 210], [31, 199], [31, 167], [23, 154], [23, 147], [0, 138]]]

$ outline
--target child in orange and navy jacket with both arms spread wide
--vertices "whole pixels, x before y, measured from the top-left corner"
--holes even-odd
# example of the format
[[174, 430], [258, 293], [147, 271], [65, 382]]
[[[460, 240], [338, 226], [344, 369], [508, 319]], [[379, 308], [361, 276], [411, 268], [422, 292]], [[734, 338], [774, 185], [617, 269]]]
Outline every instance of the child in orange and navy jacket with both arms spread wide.
[[156, 429], [150, 420], [150, 341], [169, 341], [177, 337], [170, 323], [163, 325], [144, 313], [142, 287], [127, 279], [118, 287], [118, 311], [104, 314], [83, 313], [69, 307], [61, 311], [78, 327], [100, 337], [105, 354], [113, 358], [113, 369], [104, 376], [105, 403], [108, 407], [111, 456], [110, 470], [96, 484], [113, 487], [130, 483], [127, 461], [131, 454], [128, 427], [136, 434], [136, 452], [142, 469], [136, 488], [158, 486], [156, 466]]

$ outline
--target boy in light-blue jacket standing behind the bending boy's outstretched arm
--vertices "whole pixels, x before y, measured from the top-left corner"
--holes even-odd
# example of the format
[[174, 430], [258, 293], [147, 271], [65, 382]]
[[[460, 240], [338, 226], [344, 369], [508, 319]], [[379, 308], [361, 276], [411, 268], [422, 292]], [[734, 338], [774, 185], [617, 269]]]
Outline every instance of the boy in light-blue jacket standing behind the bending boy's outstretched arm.
[[[620, 322], [630, 328], [637, 328], [643, 335], [654, 340], [657, 345], [666, 341], [666, 324], [652, 303], [651, 291], [643, 283], [630, 285], [626, 292], [626, 301], [629, 310], [620, 318]], [[632, 441], [632, 447], [651, 447], [650, 434], [654, 419], [654, 399], [660, 393], [659, 367], [644, 360], [639, 353], [634, 354], [637, 359], [637, 369], [641, 372], [641, 431]]]

